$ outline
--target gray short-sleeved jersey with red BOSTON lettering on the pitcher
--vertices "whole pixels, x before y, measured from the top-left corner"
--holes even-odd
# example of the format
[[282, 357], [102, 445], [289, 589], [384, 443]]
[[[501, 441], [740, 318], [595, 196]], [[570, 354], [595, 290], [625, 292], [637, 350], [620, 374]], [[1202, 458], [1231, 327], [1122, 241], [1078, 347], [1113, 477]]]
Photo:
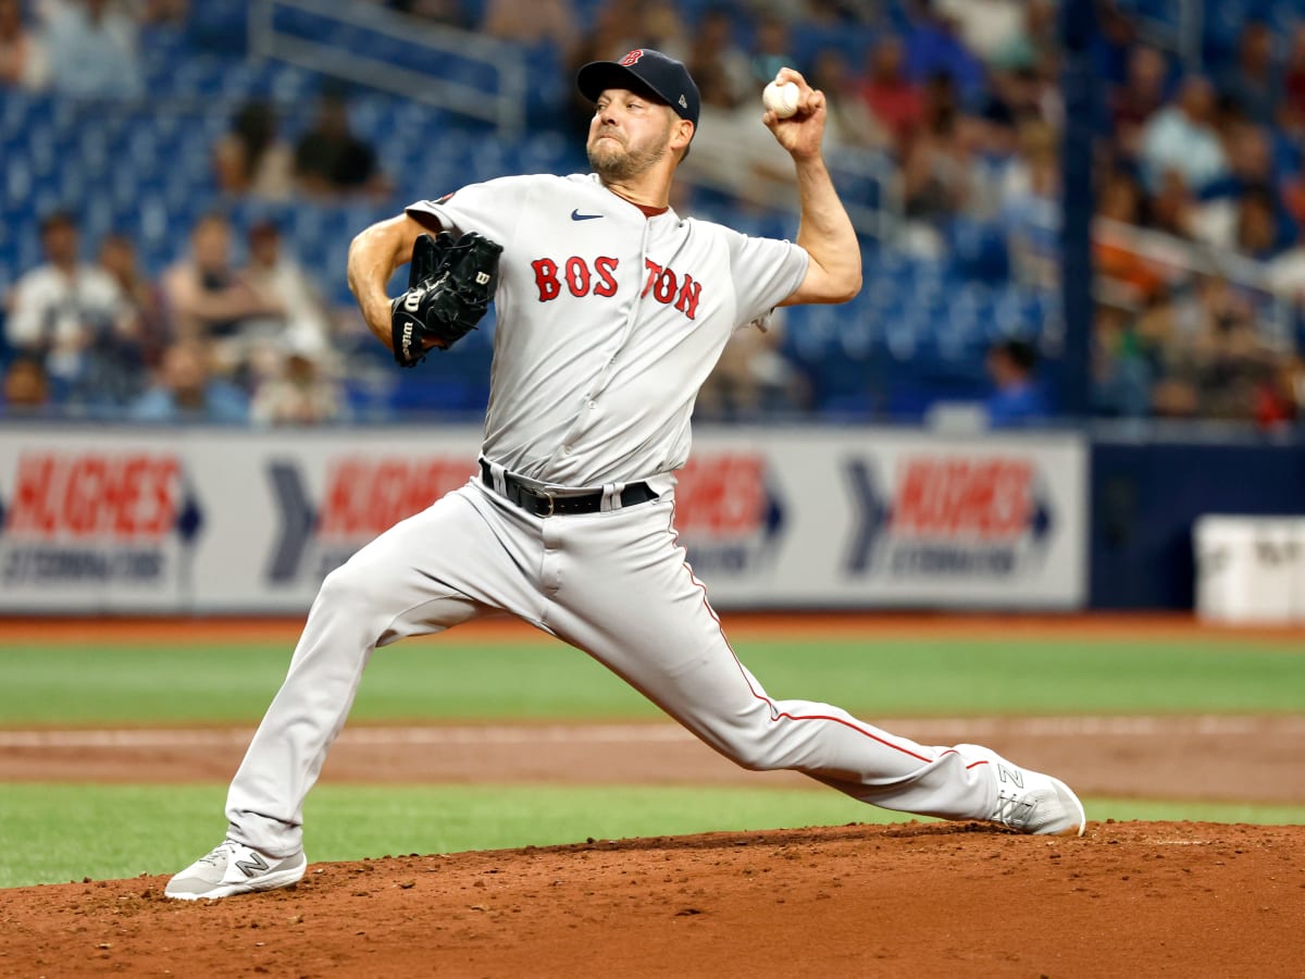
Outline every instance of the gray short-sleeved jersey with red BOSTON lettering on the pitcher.
[[681, 467], [731, 330], [806, 274], [795, 244], [645, 217], [595, 176], [501, 178], [407, 211], [504, 247], [484, 454], [556, 486]]

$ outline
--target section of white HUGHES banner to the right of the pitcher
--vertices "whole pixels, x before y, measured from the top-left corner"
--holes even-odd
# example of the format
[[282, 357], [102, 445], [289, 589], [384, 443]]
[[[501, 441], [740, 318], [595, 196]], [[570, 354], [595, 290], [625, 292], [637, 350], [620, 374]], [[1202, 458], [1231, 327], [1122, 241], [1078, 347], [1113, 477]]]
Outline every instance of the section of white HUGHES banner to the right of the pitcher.
[[731, 433], [697, 440], [676, 518], [722, 607], [1079, 608], [1086, 480], [1075, 436]]

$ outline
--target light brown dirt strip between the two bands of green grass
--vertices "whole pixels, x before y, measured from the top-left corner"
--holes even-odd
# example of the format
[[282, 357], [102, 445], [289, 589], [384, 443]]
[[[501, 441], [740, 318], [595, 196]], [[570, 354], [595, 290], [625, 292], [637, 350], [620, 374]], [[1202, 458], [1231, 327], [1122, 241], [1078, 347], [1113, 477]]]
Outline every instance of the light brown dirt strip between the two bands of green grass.
[[[925, 744], [981, 741], [1083, 795], [1305, 804], [1305, 718], [877, 718]], [[0, 730], [0, 782], [226, 782], [251, 728]], [[346, 727], [324, 782], [741, 785], [744, 771], [671, 723]]]

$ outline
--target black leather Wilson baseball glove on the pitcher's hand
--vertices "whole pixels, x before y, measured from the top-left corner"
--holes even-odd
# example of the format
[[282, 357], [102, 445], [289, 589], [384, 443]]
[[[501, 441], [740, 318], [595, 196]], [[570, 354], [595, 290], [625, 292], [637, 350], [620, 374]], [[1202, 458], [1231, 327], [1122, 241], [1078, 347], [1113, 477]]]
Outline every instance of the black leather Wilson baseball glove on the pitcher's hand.
[[468, 231], [420, 235], [412, 245], [407, 292], [390, 303], [390, 337], [399, 367], [448, 350], [476, 328], [493, 299], [502, 245]]

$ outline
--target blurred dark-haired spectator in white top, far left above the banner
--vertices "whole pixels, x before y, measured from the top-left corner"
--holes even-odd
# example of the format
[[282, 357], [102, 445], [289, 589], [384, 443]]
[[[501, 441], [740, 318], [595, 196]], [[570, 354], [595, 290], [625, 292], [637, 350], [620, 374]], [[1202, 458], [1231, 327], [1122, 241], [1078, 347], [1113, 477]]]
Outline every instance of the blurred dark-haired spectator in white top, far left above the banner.
[[130, 343], [137, 324], [112, 277], [81, 261], [70, 211], [55, 211], [40, 222], [40, 245], [46, 262], [14, 283], [5, 333], [13, 350], [43, 363], [61, 402], [80, 396], [98, 338], [110, 347]]

